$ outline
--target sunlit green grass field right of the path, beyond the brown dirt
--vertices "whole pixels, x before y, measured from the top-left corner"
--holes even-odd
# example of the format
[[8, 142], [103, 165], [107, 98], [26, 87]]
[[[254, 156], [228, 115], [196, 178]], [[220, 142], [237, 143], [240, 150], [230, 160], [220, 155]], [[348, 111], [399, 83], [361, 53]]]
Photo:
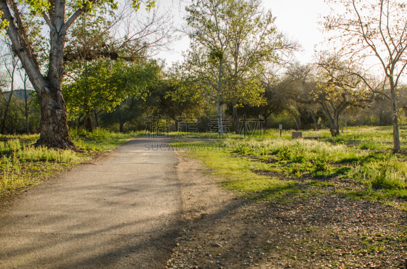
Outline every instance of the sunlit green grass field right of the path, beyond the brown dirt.
[[[391, 127], [348, 128], [332, 138], [329, 131], [305, 131], [319, 140], [292, 140], [290, 133], [267, 130], [217, 141], [178, 142], [201, 159], [228, 189], [253, 199], [281, 199], [315, 193], [315, 182], [353, 182], [335, 192], [353, 199], [407, 198], [407, 156], [392, 154]], [[400, 130], [401, 142], [407, 132]], [[314, 182], [310, 184], [309, 182]], [[313, 186], [310, 190], [309, 186]], [[340, 185], [340, 184], [339, 184]], [[307, 191], [309, 190], [309, 191]], [[325, 191], [321, 188], [321, 191]]]

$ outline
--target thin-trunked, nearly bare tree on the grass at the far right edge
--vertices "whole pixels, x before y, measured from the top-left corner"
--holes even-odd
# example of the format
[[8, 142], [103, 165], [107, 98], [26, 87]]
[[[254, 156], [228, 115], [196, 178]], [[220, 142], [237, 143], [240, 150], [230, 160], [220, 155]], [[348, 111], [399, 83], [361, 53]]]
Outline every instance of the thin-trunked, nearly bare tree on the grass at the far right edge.
[[[345, 12], [326, 17], [325, 28], [339, 32], [342, 51], [363, 63], [374, 58], [383, 74], [382, 90], [369, 82], [368, 75], [355, 72], [374, 92], [385, 94], [390, 88], [393, 111], [393, 152], [400, 151], [397, 91], [407, 65], [407, 6], [395, 0], [326, 0], [332, 6], [339, 4]], [[332, 10], [338, 10], [332, 8]], [[341, 9], [340, 9], [341, 10]], [[373, 57], [367, 57], [372, 55]], [[370, 71], [370, 73], [374, 72]]]

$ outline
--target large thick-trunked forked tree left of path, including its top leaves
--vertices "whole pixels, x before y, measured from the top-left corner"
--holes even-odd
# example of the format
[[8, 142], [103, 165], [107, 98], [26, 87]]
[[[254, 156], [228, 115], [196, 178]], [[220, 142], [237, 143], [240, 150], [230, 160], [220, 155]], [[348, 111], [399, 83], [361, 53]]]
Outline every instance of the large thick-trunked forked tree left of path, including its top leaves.
[[[141, 0], [133, 0], [133, 8], [140, 6]], [[146, 0], [147, 8], [155, 4], [153, 0]], [[7, 21], [7, 36], [13, 51], [18, 55], [28, 78], [39, 98], [41, 109], [41, 130], [37, 145], [74, 149], [67, 124], [67, 109], [62, 95], [64, 78], [64, 47], [67, 31], [79, 17], [93, 7], [109, 6], [117, 8], [113, 0], [102, 1], [26, 1], [18, 5], [13, 0], [0, 0], [2, 20]], [[23, 8], [28, 8], [34, 15], [43, 18], [49, 28], [49, 55], [46, 72], [39, 64], [35, 48], [27, 34], [27, 27], [22, 20]], [[72, 13], [67, 11], [72, 8]], [[66, 19], [68, 18], [68, 19]], [[46, 74], [46, 75], [44, 75]]]

